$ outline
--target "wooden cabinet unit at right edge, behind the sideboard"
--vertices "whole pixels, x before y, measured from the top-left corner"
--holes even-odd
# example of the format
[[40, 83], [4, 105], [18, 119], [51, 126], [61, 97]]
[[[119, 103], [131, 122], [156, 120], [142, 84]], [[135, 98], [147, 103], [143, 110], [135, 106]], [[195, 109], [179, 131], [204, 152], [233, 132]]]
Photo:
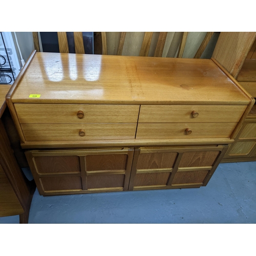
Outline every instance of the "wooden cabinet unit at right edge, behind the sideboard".
[[[256, 32], [221, 32], [213, 56], [236, 78], [252, 97], [256, 97]], [[235, 143], [222, 162], [255, 161], [255, 106], [245, 119]]]

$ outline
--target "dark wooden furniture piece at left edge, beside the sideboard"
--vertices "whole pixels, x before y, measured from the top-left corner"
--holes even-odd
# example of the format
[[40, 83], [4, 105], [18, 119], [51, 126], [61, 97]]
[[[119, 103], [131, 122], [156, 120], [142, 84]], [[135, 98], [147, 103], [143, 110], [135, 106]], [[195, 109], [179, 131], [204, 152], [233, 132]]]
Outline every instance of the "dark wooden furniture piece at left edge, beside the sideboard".
[[9, 89], [10, 86], [0, 86], [0, 217], [19, 215], [20, 223], [28, 223], [35, 184], [18, 166], [2, 120]]

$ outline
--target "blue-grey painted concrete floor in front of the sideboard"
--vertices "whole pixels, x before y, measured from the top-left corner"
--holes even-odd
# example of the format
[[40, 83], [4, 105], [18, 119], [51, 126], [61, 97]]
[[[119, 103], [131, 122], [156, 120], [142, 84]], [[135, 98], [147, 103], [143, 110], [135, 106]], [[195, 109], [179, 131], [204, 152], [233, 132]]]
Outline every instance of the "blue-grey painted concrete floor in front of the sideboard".
[[29, 223], [256, 223], [256, 162], [220, 164], [201, 188], [52, 197], [36, 189]]

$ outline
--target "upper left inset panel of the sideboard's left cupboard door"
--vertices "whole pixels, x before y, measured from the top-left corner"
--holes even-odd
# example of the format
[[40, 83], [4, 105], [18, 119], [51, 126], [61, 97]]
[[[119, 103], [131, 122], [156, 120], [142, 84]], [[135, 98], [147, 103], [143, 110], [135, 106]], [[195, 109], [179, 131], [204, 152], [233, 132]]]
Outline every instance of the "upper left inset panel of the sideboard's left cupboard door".
[[34, 158], [39, 173], [79, 173], [78, 156], [40, 156]]

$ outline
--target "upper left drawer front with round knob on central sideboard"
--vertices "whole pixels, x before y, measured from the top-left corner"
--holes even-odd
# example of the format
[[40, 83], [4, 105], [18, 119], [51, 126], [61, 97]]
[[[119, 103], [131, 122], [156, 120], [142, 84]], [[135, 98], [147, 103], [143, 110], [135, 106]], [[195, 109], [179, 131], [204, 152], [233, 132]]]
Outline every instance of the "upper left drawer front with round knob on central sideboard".
[[14, 106], [20, 123], [137, 123], [139, 115], [139, 105], [20, 103]]

